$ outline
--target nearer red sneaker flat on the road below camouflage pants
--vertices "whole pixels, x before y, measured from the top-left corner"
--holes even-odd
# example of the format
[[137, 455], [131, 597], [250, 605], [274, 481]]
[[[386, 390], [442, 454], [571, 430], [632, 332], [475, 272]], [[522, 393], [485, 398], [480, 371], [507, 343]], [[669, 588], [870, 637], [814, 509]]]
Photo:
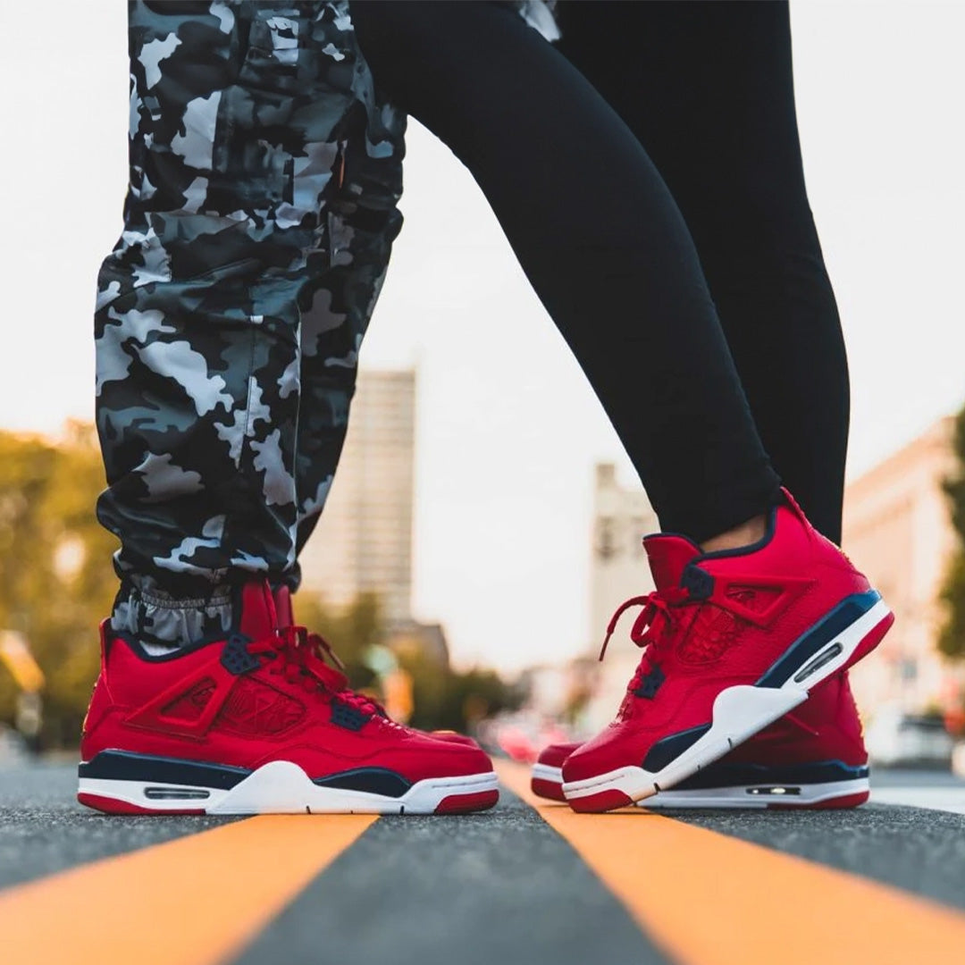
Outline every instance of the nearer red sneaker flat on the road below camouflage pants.
[[499, 797], [478, 747], [388, 720], [303, 632], [279, 631], [266, 583], [239, 632], [152, 657], [101, 626], [78, 800], [108, 813], [454, 813]]

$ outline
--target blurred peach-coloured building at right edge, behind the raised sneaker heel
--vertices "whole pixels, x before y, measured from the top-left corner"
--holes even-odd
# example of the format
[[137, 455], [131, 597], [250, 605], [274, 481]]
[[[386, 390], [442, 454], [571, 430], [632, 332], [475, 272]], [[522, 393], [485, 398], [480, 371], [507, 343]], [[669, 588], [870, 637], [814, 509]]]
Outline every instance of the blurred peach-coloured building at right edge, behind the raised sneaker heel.
[[936, 648], [938, 593], [955, 547], [942, 481], [954, 468], [951, 417], [849, 483], [843, 546], [895, 611], [895, 626], [852, 672], [862, 711], [922, 711], [955, 701], [962, 669]]

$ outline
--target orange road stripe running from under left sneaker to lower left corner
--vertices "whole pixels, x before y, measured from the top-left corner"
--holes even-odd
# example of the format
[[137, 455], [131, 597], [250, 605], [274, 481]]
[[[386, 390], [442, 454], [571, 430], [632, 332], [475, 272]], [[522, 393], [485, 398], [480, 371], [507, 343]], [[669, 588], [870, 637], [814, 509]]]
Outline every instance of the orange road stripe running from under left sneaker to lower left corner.
[[212, 965], [375, 820], [263, 815], [0, 893], [3, 965]]

